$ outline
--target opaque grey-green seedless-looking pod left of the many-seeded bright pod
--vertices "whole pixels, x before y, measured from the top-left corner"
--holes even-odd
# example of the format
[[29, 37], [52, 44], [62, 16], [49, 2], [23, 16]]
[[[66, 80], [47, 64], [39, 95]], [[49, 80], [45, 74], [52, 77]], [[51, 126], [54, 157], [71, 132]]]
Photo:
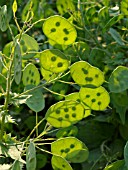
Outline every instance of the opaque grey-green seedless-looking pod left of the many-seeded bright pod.
[[[30, 90], [30, 89], [32, 89], [34, 87], [36, 87], [36, 86], [34, 86], [34, 85], [27, 85], [25, 87], [25, 91]], [[42, 111], [44, 109], [44, 107], [45, 107], [45, 100], [44, 100], [44, 97], [43, 97], [43, 94], [42, 94], [41, 90], [40, 89], [32, 90], [31, 92], [28, 92], [27, 94], [31, 95], [25, 101], [27, 106], [31, 110], [33, 110], [34, 112]]]

